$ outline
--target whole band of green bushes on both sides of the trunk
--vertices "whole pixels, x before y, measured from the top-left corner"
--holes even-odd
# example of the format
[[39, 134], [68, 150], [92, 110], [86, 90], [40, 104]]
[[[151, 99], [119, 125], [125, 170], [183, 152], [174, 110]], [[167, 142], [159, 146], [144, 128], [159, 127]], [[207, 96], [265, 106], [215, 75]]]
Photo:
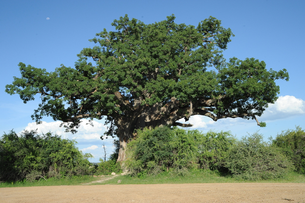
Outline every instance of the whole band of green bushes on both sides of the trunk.
[[259, 133], [236, 139], [229, 131], [201, 133], [177, 127], [159, 127], [137, 132], [127, 144], [127, 160], [117, 163], [119, 141], [105, 162], [88, 161], [76, 141], [52, 133], [37, 134], [13, 130], [0, 138], [0, 181], [35, 181], [81, 175], [120, 173], [131, 176], [178, 176], [209, 170], [239, 180], [267, 180], [285, 177], [290, 171], [305, 174], [305, 132], [300, 127], [286, 130], [264, 141]]

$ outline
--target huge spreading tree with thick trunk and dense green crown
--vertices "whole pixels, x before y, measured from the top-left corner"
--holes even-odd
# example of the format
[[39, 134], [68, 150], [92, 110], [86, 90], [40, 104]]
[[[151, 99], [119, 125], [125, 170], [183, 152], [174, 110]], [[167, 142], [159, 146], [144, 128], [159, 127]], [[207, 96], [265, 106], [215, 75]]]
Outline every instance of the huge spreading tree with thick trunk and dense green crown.
[[[24, 103], [41, 95], [32, 118], [61, 120], [76, 132], [81, 119], [105, 117], [108, 135], [120, 140], [118, 161], [135, 130], [161, 125], [188, 127], [177, 122], [203, 115], [255, 119], [274, 103], [279, 87], [274, 80], [289, 76], [285, 69], [266, 70], [264, 61], [237, 58], [226, 62], [231, 29], [210, 17], [197, 27], [167, 20], [144, 24], [127, 15], [114, 20], [116, 31], [104, 29], [89, 40], [99, 46], [84, 48], [75, 68], [45, 69], [19, 63], [21, 77], [6, 85]], [[88, 62], [88, 58], [96, 62]]]

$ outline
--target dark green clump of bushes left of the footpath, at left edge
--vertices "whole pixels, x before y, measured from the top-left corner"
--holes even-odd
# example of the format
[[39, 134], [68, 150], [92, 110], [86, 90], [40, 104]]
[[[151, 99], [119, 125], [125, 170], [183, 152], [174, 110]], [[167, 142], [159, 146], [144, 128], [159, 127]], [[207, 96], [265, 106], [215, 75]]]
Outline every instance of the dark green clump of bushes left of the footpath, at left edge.
[[76, 142], [61, 139], [52, 133], [38, 135], [13, 130], [0, 139], [0, 180], [33, 181], [48, 177], [88, 174], [91, 154], [82, 154]]

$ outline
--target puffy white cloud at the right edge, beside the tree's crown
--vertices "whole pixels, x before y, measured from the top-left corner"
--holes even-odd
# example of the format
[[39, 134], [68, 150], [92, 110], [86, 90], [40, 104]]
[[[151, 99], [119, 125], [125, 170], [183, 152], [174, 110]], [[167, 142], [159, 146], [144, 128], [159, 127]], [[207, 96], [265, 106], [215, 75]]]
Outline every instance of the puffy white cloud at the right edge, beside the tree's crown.
[[286, 95], [280, 96], [274, 104], [270, 104], [261, 118], [276, 120], [302, 114], [305, 114], [305, 101]]

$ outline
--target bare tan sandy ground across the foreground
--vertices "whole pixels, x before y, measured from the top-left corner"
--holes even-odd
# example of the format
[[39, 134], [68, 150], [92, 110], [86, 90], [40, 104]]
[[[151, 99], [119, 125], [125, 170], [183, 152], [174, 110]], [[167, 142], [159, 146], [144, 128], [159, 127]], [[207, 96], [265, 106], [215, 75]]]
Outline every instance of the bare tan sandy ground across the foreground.
[[0, 202], [305, 202], [304, 183], [196, 183], [0, 188]]

